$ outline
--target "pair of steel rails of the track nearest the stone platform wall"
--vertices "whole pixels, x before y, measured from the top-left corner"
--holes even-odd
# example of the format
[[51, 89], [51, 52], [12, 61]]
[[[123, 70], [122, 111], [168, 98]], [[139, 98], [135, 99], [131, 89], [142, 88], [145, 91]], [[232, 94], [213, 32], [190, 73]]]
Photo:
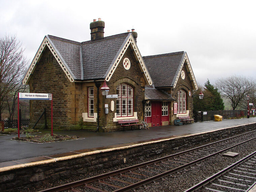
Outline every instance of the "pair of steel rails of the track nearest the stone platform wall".
[[[183, 151], [183, 152], [179, 152], [179, 153], [176, 153], [176, 154], [172, 154], [172, 155], [168, 155], [168, 156], [165, 156], [165, 157], [161, 157], [161, 158], [158, 158], [158, 159], [154, 159], [152, 161], [147, 161], [147, 162], [144, 162], [144, 163], [140, 163], [140, 164], [137, 164], [137, 165], [133, 165], [133, 166], [130, 166], [130, 167], [126, 167], [126, 168], [123, 168], [123, 169], [119, 169], [119, 170], [116, 170], [116, 171], [112, 171], [112, 172], [108, 172], [108, 173], [104, 173], [104, 174], [101, 174], [101, 175], [96, 175], [94, 177], [91, 177], [91, 178], [86, 178], [86, 179], [83, 179], [83, 180], [79, 180], [79, 181], [75, 181], [75, 182], [71, 182], [71, 183], [67, 183], [67, 184], [64, 184], [64, 185], [60, 185], [60, 186], [56, 186], [56, 187], [52, 187], [52, 188], [49, 188], [49, 189], [45, 189], [45, 190], [41, 190], [39, 192], [56, 192], [56, 191], [63, 191], [63, 190], [67, 190], [67, 189], [70, 189], [70, 188], [73, 188], [73, 187], [78, 187], [78, 186], [82, 186], [82, 185], [85, 185], [85, 184], [89, 184], [89, 183], [92, 183], [92, 182], [95, 182], [95, 181], [98, 181], [98, 180], [102, 180], [102, 179], [106, 179], [106, 178], [109, 178], [109, 177], [113, 177], [115, 175], [118, 175], [120, 173], [124, 173], [124, 172], [127, 172], [129, 170], [134, 170], [134, 169], [137, 169], [137, 168], [141, 168], [141, 167], [145, 167], [146, 165], [151, 165], [151, 164], [154, 164], [154, 163], [157, 163], [157, 162], [160, 162], [160, 161], [163, 161], [163, 160], [166, 160], [166, 159], [169, 159], [169, 158], [173, 158], [173, 157], [177, 157], [177, 156], [180, 156], [180, 155], [183, 155], [183, 154], [186, 154], [186, 153], [189, 153], [189, 152], [192, 152], [192, 151], [196, 151], [198, 149], [202, 149], [202, 148], [205, 148], [205, 147], [208, 147], [208, 146], [212, 146], [212, 145], [215, 145], [217, 143], [221, 143], [221, 142], [224, 142], [224, 141], [227, 141], [227, 140], [232, 140], [236, 137], [241, 137], [243, 135], [246, 135], [246, 134], [250, 134], [250, 133], [253, 133], [255, 132], [256, 130], [254, 131], [250, 131], [250, 132], [247, 132], [247, 133], [243, 133], [243, 134], [240, 134], [240, 135], [236, 135], [236, 136], [233, 136], [233, 137], [229, 137], [229, 138], [226, 138], [226, 139], [222, 139], [222, 140], [219, 140], [219, 141], [215, 141], [213, 143], [209, 143], [209, 144], [206, 144], [206, 145], [203, 145], [203, 146], [199, 146], [199, 147], [196, 147], [196, 148], [193, 148], [193, 149], [189, 149], [189, 150], [186, 150], [186, 151]], [[143, 180], [143, 181], [139, 181], [137, 183], [134, 183], [132, 185], [128, 185], [124, 188], [121, 188], [121, 189], [118, 189], [118, 190], [115, 190], [116, 191], [127, 191], [127, 190], [130, 190], [132, 188], [137, 188], [141, 185], [144, 185], [144, 184], [148, 184], [154, 180], [157, 180], [161, 177], [165, 177], [166, 175], [168, 174], [171, 174], [173, 172], [176, 172], [180, 169], [183, 169], [185, 167], [188, 167], [192, 164], [195, 164], [197, 162], [200, 162], [200, 161], [203, 161], [207, 158], [210, 158], [218, 153], [221, 153], [223, 151], [226, 151], [228, 149], [231, 149], [233, 147], [236, 147], [238, 145], [242, 145], [243, 143], [245, 142], [248, 142], [250, 140], [253, 140], [255, 139], [256, 137], [254, 138], [251, 138], [249, 140], [246, 140], [246, 141], [243, 141], [242, 143], [238, 143], [234, 146], [231, 146], [231, 147], [228, 147], [228, 148], [225, 148], [219, 152], [216, 152], [216, 153], [213, 153], [213, 154], [210, 154], [208, 156], [205, 156], [203, 158], [200, 158], [200, 159], [197, 159], [195, 161], [192, 161], [190, 163], [187, 163], [187, 164], [184, 164], [182, 166], [179, 166], [177, 168], [174, 168], [174, 169], [171, 169], [169, 171], [166, 171], [166, 172], [163, 172], [163, 173], [160, 173], [158, 175], [155, 175], [151, 178], [148, 178], [146, 180]], [[133, 186], [132, 188], [130, 188], [129, 186]], [[125, 189], [125, 190], [123, 190]]]

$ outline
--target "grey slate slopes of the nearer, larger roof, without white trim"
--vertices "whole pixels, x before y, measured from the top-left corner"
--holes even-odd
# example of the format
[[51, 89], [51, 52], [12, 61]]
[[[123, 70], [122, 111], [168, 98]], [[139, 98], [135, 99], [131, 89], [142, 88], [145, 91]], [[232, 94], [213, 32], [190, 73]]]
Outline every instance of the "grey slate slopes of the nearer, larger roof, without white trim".
[[[71, 41], [52, 35], [48, 37], [73, 73], [74, 79], [89, 80], [106, 77], [109, 66], [130, 34], [122, 33], [85, 42]], [[82, 64], [80, 51], [82, 51]]]

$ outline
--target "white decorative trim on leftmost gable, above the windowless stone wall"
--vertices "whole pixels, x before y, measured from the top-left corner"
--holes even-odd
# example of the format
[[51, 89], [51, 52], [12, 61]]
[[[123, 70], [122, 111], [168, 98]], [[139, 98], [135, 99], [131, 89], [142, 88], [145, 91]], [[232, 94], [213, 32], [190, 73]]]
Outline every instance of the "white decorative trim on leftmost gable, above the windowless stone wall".
[[35, 70], [35, 65], [37, 63], [37, 61], [39, 60], [43, 49], [45, 47], [45, 45], [47, 45], [47, 47], [49, 47], [50, 51], [52, 52], [53, 56], [55, 57], [55, 59], [57, 60], [57, 62], [59, 63], [59, 65], [61, 66], [61, 68], [63, 69], [63, 71], [65, 72], [65, 74], [67, 75], [68, 79], [70, 82], [74, 82], [74, 78], [71, 75], [71, 72], [67, 69], [67, 67], [65, 66], [64, 62], [61, 60], [60, 56], [57, 54], [57, 51], [54, 49], [53, 45], [51, 44], [51, 42], [47, 39], [47, 37], [45, 36], [43, 39], [43, 42], [41, 43], [32, 63], [29, 66], [29, 69], [22, 81], [23, 84], [27, 84], [30, 74], [33, 73], [33, 71]]

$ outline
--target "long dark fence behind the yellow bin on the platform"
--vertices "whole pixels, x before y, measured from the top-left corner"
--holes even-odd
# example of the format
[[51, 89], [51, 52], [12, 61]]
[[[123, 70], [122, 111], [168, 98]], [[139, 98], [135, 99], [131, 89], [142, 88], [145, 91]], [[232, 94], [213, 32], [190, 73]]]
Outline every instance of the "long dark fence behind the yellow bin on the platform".
[[239, 118], [247, 115], [247, 110], [217, 110], [217, 111], [193, 111], [195, 122], [212, 121], [214, 115], [221, 115], [222, 119]]

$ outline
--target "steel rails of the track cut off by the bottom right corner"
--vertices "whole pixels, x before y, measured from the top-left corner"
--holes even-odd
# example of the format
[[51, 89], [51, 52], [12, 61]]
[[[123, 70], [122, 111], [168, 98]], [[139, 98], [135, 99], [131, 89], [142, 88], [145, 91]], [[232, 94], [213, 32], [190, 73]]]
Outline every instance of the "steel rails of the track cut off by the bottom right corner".
[[[240, 164], [243, 163], [244, 161], [250, 159], [250, 158], [251, 158], [252, 156], [254, 156], [255, 154], [256, 154], [256, 151], [253, 152], [253, 153], [251, 153], [250, 155], [244, 157], [243, 159], [241, 159], [241, 160], [235, 162], [234, 164], [232, 164], [232, 165], [226, 167], [225, 169], [219, 171], [218, 173], [212, 175], [211, 177], [209, 177], [209, 178], [207, 178], [207, 179], [201, 181], [200, 183], [198, 183], [198, 184], [196, 184], [196, 185], [190, 187], [189, 189], [185, 190], [184, 192], [192, 192], [192, 191], [196, 191], [196, 190], [202, 188], [203, 186], [209, 184], [210, 182], [216, 180], [217, 178], [219, 178], [220, 176], [222, 176], [223, 174], [225, 174], [227, 171], [233, 169], [234, 167], [240, 165]], [[255, 183], [256, 183], [256, 182], [255, 182]], [[255, 184], [255, 183], [254, 183], [254, 184]], [[253, 186], [253, 185], [252, 185], [252, 186]], [[252, 187], [252, 186], [251, 186], [251, 187]], [[249, 189], [251, 189], [251, 187], [250, 187]], [[249, 190], [249, 189], [248, 189], [248, 190]], [[248, 191], [248, 190], [246, 190], [246, 191]]]

